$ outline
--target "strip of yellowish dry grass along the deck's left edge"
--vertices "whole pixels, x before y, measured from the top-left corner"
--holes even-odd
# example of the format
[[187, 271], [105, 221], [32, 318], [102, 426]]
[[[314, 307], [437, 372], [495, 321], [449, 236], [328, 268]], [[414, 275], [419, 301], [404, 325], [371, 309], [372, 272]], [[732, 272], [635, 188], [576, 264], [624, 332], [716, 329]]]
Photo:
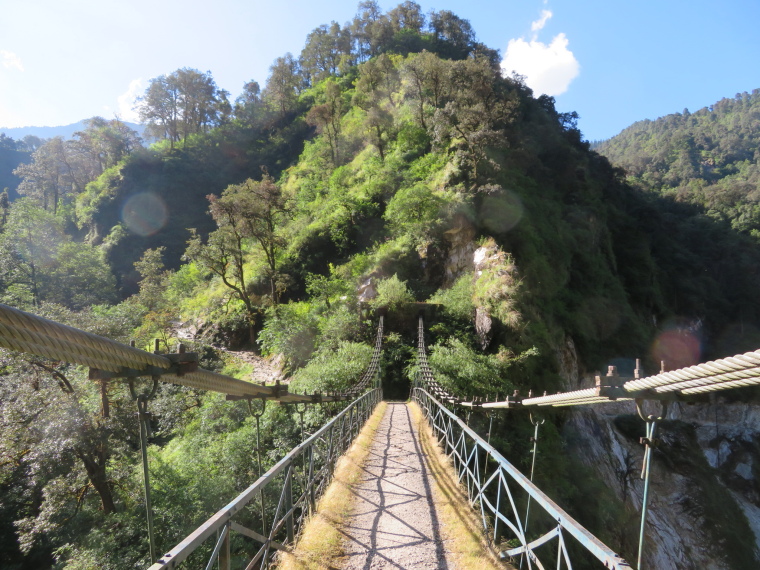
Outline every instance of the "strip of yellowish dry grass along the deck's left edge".
[[342, 566], [343, 534], [340, 529], [353, 507], [350, 488], [361, 479], [362, 464], [369, 455], [372, 439], [387, 407], [385, 402], [378, 405], [356, 441], [340, 458], [333, 481], [317, 504], [316, 514], [304, 526], [295, 549], [282, 553], [278, 568], [331, 570]]

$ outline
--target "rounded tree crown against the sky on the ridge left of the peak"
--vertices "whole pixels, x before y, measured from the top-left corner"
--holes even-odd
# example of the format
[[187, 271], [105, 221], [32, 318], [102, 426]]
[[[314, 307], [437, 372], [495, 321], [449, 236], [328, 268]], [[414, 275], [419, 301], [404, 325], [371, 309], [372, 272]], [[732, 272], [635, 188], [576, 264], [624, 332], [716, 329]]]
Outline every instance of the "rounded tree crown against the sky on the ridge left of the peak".
[[174, 143], [217, 125], [226, 98], [210, 71], [185, 67], [151, 79], [138, 108], [140, 119], [148, 124], [146, 132], [168, 139], [174, 148]]

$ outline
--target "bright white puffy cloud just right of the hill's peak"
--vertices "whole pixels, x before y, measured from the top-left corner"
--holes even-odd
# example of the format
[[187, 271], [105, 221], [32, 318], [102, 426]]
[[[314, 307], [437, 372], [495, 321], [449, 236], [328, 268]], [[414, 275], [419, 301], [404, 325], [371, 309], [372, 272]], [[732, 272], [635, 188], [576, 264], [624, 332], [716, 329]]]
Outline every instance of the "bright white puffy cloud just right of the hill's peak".
[[501, 62], [506, 75], [518, 73], [537, 95], [561, 95], [578, 77], [581, 66], [573, 52], [568, 49], [565, 34], [557, 34], [550, 44], [538, 41], [540, 30], [552, 17], [550, 10], [543, 10], [541, 17], [531, 24], [533, 38], [509, 40], [507, 52]]

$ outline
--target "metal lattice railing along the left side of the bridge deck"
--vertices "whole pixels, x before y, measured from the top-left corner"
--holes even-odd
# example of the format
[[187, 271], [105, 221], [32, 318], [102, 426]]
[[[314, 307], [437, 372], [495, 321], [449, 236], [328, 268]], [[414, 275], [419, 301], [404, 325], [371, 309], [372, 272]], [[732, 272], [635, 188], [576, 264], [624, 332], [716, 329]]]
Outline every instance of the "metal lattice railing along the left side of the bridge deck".
[[[329, 484], [335, 463], [359, 434], [364, 423], [382, 400], [382, 390], [374, 388], [354, 402], [314, 435], [295, 447], [253, 485], [240, 493], [226, 507], [164, 554], [150, 570], [178, 568], [197, 550], [205, 550], [205, 568], [218, 562], [220, 570], [229, 570], [233, 556], [245, 557], [246, 570], [267, 568], [277, 550], [288, 550], [307, 518], [316, 509], [316, 501]], [[269, 520], [260, 520], [256, 498], [279, 497]], [[264, 515], [266, 516], [266, 515]], [[248, 526], [246, 526], [248, 525]], [[250, 526], [261, 525], [263, 534]], [[266, 529], [266, 530], [265, 530]], [[247, 544], [231, 546], [231, 535], [250, 539]], [[215, 537], [212, 546], [211, 540]], [[246, 554], [247, 553], [247, 554]], [[251, 553], [253, 553], [251, 555]], [[193, 566], [198, 563], [194, 560]]]

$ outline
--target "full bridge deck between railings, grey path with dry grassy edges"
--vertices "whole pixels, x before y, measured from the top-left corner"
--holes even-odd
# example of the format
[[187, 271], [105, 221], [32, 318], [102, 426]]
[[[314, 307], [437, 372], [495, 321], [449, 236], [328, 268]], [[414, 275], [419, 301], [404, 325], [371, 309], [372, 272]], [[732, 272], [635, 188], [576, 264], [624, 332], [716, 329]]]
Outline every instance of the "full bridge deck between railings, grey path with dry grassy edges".
[[[479, 521], [415, 404], [388, 402], [364, 455], [342, 490], [349, 504], [342, 516], [330, 517], [343, 537], [331, 559], [299, 555], [301, 545], [310, 542], [309, 525], [295, 559], [287, 557], [291, 564], [283, 567], [506, 567], [485, 545]], [[337, 474], [335, 484], [341, 484]], [[310, 562], [298, 563], [299, 558]]]

